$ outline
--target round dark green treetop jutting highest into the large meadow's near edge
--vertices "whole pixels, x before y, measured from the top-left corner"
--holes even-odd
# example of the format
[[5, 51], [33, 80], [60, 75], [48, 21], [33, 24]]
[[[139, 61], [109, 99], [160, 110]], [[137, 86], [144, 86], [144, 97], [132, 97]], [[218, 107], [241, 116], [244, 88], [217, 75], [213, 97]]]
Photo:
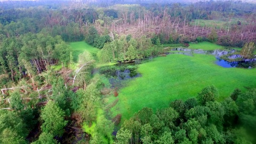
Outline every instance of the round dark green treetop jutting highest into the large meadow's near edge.
[[204, 87], [204, 89], [200, 93], [198, 93], [197, 100], [202, 105], [205, 105], [206, 102], [214, 101], [218, 96], [219, 96], [219, 93], [216, 87], [213, 85], [210, 85], [210, 86]]

